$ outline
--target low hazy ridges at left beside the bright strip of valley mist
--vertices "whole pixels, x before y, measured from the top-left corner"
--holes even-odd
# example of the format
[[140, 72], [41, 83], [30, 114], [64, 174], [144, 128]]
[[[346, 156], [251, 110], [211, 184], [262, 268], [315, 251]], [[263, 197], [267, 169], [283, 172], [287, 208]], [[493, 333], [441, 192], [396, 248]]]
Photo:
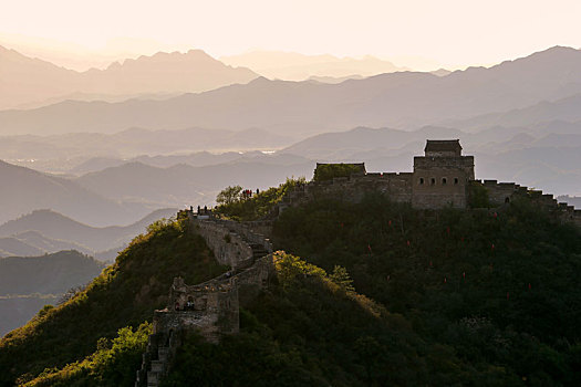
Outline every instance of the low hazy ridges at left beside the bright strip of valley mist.
[[0, 155], [12, 164], [63, 172], [93, 157], [128, 160], [143, 155], [190, 155], [203, 150], [271, 150], [294, 142], [293, 137], [259, 128], [241, 132], [197, 127], [181, 130], [131, 128], [115, 134], [4, 136], [0, 137]]

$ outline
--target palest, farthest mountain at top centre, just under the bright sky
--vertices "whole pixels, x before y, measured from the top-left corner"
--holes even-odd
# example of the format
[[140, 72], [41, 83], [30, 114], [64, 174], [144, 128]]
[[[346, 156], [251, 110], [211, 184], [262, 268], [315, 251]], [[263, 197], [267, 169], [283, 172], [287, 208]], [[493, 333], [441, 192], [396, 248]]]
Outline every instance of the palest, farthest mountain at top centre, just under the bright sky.
[[336, 57], [330, 54], [304, 55], [295, 52], [252, 51], [222, 56], [224, 63], [255, 70], [269, 79], [303, 81], [313, 76], [346, 77], [371, 76], [408, 69], [367, 55], [362, 59]]

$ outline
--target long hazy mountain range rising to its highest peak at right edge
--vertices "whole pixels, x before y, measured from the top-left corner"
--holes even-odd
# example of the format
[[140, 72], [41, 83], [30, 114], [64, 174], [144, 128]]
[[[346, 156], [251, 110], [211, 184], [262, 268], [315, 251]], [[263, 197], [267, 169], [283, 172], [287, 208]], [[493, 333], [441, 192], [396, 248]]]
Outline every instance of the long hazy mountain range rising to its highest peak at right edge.
[[[447, 76], [392, 73], [340, 84], [259, 77], [167, 101], [63, 102], [25, 112], [1, 112], [4, 133], [113, 132], [126, 127], [246, 129], [305, 135], [364, 125], [419, 127], [581, 93], [581, 51], [552, 48], [490, 69]], [[570, 108], [579, 111], [572, 104]]]

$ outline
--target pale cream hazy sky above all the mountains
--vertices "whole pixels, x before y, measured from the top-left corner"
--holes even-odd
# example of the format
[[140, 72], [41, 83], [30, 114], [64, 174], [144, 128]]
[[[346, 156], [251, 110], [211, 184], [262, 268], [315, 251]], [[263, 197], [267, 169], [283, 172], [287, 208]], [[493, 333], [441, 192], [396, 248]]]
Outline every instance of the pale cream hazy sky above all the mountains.
[[478, 65], [579, 48], [580, 17], [581, 0], [18, 0], [0, 6], [0, 44], [40, 57], [267, 49]]

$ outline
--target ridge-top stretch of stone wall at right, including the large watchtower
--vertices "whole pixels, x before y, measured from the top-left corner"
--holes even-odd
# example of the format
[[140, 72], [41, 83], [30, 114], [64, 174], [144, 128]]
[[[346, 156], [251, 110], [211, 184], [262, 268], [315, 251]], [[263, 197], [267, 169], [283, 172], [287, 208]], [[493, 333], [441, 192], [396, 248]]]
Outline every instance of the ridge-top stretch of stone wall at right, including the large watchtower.
[[[311, 181], [295, 187], [278, 205], [277, 213], [288, 207], [333, 197], [359, 202], [366, 194], [381, 192], [390, 200], [411, 203], [416, 209], [446, 207], [469, 208], [471, 196], [484, 188], [490, 208], [504, 206], [519, 197], [527, 197], [556, 215], [561, 221], [581, 227], [581, 210], [558, 202], [552, 195], [529, 189], [515, 182], [477, 180], [474, 175], [474, 157], [463, 156], [459, 140], [427, 140], [425, 155], [414, 157], [412, 172], [366, 172], [363, 164], [359, 171], [345, 177]], [[325, 166], [318, 164], [318, 168]]]

